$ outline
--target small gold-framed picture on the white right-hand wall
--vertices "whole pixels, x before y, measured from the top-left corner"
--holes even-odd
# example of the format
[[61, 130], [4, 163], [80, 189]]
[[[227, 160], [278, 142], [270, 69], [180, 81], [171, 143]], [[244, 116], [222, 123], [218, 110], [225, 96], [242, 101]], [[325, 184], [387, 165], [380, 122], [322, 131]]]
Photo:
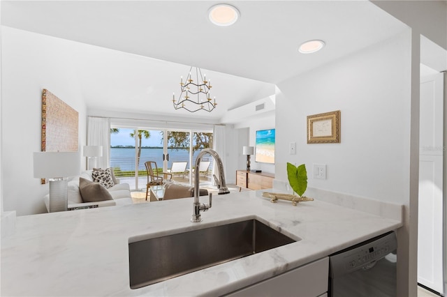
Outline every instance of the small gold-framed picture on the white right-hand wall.
[[340, 111], [307, 116], [307, 143], [340, 143]]

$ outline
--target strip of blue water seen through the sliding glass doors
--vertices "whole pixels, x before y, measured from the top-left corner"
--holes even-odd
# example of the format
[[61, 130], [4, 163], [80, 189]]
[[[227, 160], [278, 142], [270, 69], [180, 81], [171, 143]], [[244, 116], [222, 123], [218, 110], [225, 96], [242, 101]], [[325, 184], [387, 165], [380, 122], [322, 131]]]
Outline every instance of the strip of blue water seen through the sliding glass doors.
[[[199, 151], [195, 151], [193, 161], [196, 160]], [[186, 149], [168, 148], [169, 161], [168, 168], [173, 162], [188, 162], [189, 152]], [[211, 157], [209, 157], [211, 159]], [[208, 158], [203, 158], [207, 160]], [[157, 167], [163, 168], [163, 148], [141, 148], [139, 170], [145, 170], [146, 161], [155, 161]], [[132, 171], [135, 169], [135, 148], [110, 148], [110, 167], [119, 167], [122, 171]]]

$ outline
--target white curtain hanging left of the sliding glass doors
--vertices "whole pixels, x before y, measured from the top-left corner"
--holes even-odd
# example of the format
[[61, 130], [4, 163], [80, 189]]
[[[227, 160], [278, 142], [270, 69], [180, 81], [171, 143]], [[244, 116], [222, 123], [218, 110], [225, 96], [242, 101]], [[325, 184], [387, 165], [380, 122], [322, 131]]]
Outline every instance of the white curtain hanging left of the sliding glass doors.
[[89, 116], [87, 123], [87, 145], [103, 146], [103, 156], [98, 157], [96, 166], [99, 168], [108, 168], [110, 160], [110, 119]]

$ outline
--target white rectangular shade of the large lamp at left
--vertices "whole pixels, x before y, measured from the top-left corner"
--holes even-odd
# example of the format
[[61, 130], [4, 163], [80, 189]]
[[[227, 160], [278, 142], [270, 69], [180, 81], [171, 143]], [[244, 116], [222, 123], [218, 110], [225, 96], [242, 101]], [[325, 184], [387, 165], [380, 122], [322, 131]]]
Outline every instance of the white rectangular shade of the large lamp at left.
[[80, 174], [80, 153], [78, 152], [36, 152], [34, 153], [35, 178], [61, 178]]

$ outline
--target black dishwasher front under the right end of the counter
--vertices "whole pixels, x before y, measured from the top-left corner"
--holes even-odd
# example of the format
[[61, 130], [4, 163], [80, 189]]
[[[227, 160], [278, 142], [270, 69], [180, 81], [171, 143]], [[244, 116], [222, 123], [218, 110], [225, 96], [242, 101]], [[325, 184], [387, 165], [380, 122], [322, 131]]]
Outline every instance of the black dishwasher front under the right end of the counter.
[[396, 296], [394, 231], [329, 256], [330, 297]]

